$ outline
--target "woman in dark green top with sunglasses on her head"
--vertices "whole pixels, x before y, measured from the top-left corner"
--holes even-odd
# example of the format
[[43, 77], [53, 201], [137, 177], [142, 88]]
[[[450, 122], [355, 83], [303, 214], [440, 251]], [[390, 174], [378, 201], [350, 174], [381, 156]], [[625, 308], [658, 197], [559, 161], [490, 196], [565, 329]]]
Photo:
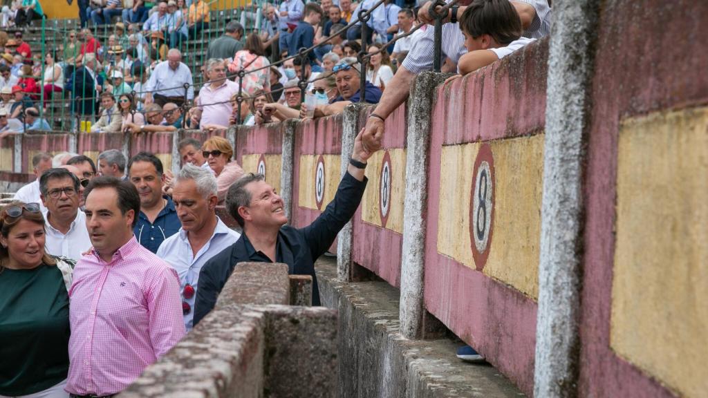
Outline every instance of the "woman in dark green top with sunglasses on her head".
[[69, 397], [71, 273], [45, 253], [38, 203], [0, 210], [0, 396]]

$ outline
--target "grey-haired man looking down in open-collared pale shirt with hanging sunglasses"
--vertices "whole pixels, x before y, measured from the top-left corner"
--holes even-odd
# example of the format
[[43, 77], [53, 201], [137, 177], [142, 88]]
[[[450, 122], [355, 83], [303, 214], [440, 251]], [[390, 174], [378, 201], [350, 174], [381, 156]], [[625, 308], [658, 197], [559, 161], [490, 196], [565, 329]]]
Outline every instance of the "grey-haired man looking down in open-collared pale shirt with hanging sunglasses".
[[185, 164], [176, 177], [172, 198], [182, 228], [165, 239], [156, 254], [179, 275], [184, 324], [189, 331], [202, 266], [239, 240], [241, 234], [217, 217], [217, 181], [209, 171]]

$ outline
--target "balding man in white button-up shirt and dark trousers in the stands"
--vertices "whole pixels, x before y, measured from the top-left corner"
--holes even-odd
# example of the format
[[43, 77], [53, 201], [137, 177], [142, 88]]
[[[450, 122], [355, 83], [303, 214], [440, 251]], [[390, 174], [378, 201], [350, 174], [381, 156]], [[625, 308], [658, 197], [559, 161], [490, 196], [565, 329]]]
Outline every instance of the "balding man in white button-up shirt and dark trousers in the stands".
[[[182, 63], [182, 53], [173, 48], [167, 52], [167, 60], [160, 62], [150, 75], [150, 79], [144, 86], [145, 105], [153, 103], [165, 106], [166, 103], [173, 102], [177, 106], [184, 103], [185, 88], [188, 84], [187, 99], [194, 99], [194, 81], [192, 71], [187, 65]], [[154, 94], [153, 94], [154, 92]]]

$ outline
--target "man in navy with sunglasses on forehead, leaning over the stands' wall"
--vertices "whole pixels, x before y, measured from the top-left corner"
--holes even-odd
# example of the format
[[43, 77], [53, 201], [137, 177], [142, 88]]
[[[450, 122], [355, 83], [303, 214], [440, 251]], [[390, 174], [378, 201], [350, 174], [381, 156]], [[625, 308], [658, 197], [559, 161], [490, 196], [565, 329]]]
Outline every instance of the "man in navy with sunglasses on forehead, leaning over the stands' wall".
[[[339, 96], [334, 98], [329, 105], [319, 105], [314, 110], [314, 117], [341, 113], [350, 103], [359, 102], [361, 96], [360, 64], [356, 58], [344, 58], [332, 68], [336, 76]], [[381, 89], [369, 81], [364, 82], [364, 101], [366, 103], [379, 103]]]

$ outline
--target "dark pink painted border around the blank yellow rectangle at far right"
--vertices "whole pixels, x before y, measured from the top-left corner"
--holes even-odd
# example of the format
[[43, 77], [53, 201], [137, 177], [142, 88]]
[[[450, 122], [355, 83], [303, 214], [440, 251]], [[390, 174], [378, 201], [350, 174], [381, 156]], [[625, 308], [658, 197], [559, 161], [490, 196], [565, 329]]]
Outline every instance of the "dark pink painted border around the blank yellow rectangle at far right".
[[[601, 9], [584, 192], [581, 397], [675, 396], [610, 348], [617, 140], [623, 118], [708, 103], [708, 52], [700, 39], [707, 20], [708, 3], [688, 0], [608, 2]], [[662, 28], [641, 28], [652, 25]]]

